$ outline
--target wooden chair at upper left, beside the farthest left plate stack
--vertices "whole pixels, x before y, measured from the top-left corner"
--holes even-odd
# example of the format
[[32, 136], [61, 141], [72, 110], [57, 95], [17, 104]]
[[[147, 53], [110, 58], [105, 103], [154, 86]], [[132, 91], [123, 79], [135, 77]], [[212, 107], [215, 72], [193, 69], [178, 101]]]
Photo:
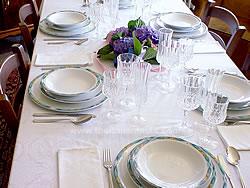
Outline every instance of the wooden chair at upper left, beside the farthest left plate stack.
[[[35, 38], [38, 25], [39, 25], [39, 13], [38, 13], [38, 7], [36, 4], [36, 1], [35, 0], [29, 0], [29, 1], [30, 2], [28, 4], [23, 5], [19, 9], [19, 20], [20, 20], [19, 28], [21, 30], [25, 46], [31, 57], [33, 48], [34, 48], [33, 39]], [[34, 25], [34, 29], [32, 31], [33, 33], [29, 31], [28, 25], [26, 23], [29, 17], [31, 17], [32, 23]]]

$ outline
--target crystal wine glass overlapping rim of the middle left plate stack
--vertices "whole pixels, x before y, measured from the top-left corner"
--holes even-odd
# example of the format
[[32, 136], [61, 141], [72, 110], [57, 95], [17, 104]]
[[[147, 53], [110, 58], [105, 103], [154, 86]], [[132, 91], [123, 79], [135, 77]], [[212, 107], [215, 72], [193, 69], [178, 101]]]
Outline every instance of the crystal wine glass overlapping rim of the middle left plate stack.
[[105, 114], [105, 117], [113, 121], [119, 120], [121, 114], [116, 108], [120, 96], [117, 71], [115, 69], [106, 70], [103, 72], [103, 78], [102, 93], [109, 99], [111, 104], [110, 111]]

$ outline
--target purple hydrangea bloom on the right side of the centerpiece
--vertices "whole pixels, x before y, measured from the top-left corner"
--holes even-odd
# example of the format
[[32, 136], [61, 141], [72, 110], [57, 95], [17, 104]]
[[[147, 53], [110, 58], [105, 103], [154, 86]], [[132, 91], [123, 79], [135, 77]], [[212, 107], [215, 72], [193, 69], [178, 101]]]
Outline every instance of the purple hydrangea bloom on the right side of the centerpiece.
[[150, 26], [142, 26], [135, 29], [135, 36], [140, 42], [145, 41], [147, 38], [151, 39], [153, 44], [158, 44], [159, 34], [153, 30]]

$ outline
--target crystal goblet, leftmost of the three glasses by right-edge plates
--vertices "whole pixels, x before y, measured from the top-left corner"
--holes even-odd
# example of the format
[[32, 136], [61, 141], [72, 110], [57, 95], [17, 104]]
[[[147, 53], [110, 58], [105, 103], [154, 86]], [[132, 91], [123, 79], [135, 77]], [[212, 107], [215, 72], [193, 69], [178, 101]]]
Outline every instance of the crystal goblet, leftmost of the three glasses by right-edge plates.
[[188, 124], [188, 112], [195, 110], [201, 103], [201, 91], [203, 85], [203, 78], [198, 74], [185, 74], [181, 80], [180, 90], [178, 93], [178, 104], [184, 110], [184, 118], [182, 123], [182, 131], [186, 134], [192, 135], [193, 131]]

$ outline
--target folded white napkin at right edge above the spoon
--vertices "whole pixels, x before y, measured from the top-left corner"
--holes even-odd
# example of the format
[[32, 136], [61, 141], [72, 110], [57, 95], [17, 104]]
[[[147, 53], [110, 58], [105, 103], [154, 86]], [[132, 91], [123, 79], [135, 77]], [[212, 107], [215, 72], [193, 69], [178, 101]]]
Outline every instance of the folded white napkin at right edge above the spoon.
[[218, 126], [218, 132], [228, 146], [250, 151], [250, 125]]

